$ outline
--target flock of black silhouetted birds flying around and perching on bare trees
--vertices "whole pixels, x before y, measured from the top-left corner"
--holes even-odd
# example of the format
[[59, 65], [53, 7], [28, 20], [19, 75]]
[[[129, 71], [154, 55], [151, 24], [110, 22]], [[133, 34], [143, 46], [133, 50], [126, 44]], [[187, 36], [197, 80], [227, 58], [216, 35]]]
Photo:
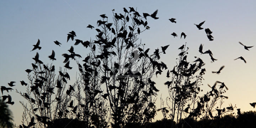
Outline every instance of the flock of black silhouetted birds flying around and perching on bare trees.
[[[124, 9], [123, 11], [126, 12], [126, 13], [133, 12], [133, 14], [136, 15], [135, 17], [133, 17], [133, 20], [135, 21], [135, 23], [137, 23], [138, 26], [139, 26], [139, 25], [143, 25], [144, 27], [147, 27], [147, 26], [146, 26], [146, 25], [148, 24], [147, 21], [144, 22], [143, 20], [139, 20], [139, 19], [136, 18], [136, 17], [142, 17], [142, 16], [141, 16], [137, 11], [135, 11], [133, 7], [129, 7], [130, 11], [128, 11], [126, 8], [123, 8], [123, 9]], [[150, 17], [152, 17], [152, 18], [154, 18], [154, 19], [158, 19], [159, 17], [156, 17], [157, 12], [158, 12], [158, 10], [156, 10], [156, 11], [155, 11], [153, 14], [151, 14], [151, 15], [148, 14], [148, 13], [143, 13], [143, 17], [146, 19], [148, 16], [150, 16]], [[102, 14], [102, 15], [100, 15], [100, 16], [101, 16], [102, 18], [108, 18], [105, 14]], [[117, 15], [117, 13], [115, 13], [114, 17], [115, 17], [117, 20], [120, 20], [120, 19], [123, 18], [123, 19], [126, 19], [127, 21], [129, 21], [129, 17], [128, 17], [128, 16], [127, 16], [127, 17], [124, 17], [122, 14]], [[176, 23], [176, 21], [175, 21], [176, 19], [175, 19], [175, 18], [170, 18], [169, 20], [170, 20], [170, 22], [172, 22], [172, 23]], [[130, 33], [129, 33], [129, 34], [128, 34], [128, 32], [127, 32], [126, 30], [124, 30], [123, 27], [121, 28], [121, 30], [120, 30], [119, 33], [118, 33], [118, 32], [116, 32], [116, 31], [114, 31], [113, 28], [111, 28], [112, 23], [107, 23], [107, 24], [106, 24], [106, 22], [107, 22], [107, 21], [98, 20], [98, 21], [97, 21], [97, 24], [98, 24], [98, 26], [101, 26], [101, 25], [106, 26], [106, 27], [108, 28], [108, 30], [110, 30], [113, 34], [117, 34], [117, 38], [124, 38], [125, 43], [127, 43], [127, 48], [133, 47], [133, 44], [128, 41], [128, 39], [132, 36], [132, 33], [133, 33], [133, 31], [134, 31], [132, 27], [128, 26], [128, 28], [129, 28], [129, 30], [130, 30]], [[202, 25], [204, 24], [204, 22], [205, 22], [205, 21], [199, 23], [198, 25], [197, 25], [197, 24], [194, 24], [194, 25], [196, 25], [196, 27], [197, 27], [199, 30], [202, 30], [202, 29], [203, 29], [203, 28], [202, 28]], [[94, 28], [94, 26], [88, 25], [87, 28], [91, 28], [91, 29], [92, 29], [92, 28]], [[116, 42], [116, 37], [114, 37], [111, 42], [107, 42], [106, 39], [103, 39], [103, 38], [102, 38], [103, 32], [101, 32], [101, 30], [99, 30], [99, 29], [96, 29], [96, 31], [98, 32], [97, 37], [98, 37], [100, 40], [94, 41], [94, 45], [93, 45], [93, 47], [92, 47], [93, 50], [95, 50], [95, 44], [100, 44], [100, 45], [101, 45], [101, 44], [105, 44], [105, 45], [103, 46], [105, 49], [114, 46], [114, 43]], [[121, 31], [122, 31], [122, 32], [121, 32]], [[207, 37], [208, 37], [209, 41], [213, 41], [213, 36], [211, 35], [211, 34], [212, 34], [212, 31], [210, 31], [209, 28], [206, 28], [206, 29], [205, 29], [205, 32], [206, 32], [206, 34], [207, 34]], [[139, 29], [139, 27], [137, 28], [137, 33], [140, 34], [140, 29]], [[129, 37], [128, 39], [126, 38], [127, 34], [128, 34], [128, 37]], [[69, 32], [67, 35], [68, 35], [68, 36], [67, 36], [67, 42], [69, 41], [70, 38], [71, 38], [71, 40], [73, 41], [73, 40], [74, 40], [74, 37], [76, 37], [76, 33], [75, 33], [74, 31]], [[177, 37], [177, 34], [176, 34], [175, 32], [173, 32], [171, 35], [174, 36], [174, 37]], [[186, 35], [184, 32], [182, 32], [182, 33], [181, 33], [181, 38], [182, 38], [182, 36], [183, 36], [184, 39], [185, 39], [187, 35]], [[89, 41], [83, 42], [83, 41], [81, 41], [81, 40], [79, 40], [79, 39], [75, 39], [75, 41], [76, 41], [76, 42], [75, 42], [74, 45], [78, 45], [78, 44], [81, 43], [81, 44], [82, 44], [84, 47], [86, 47], [86, 48], [90, 45], [90, 42], [89, 42]], [[62, 44], [61, 44], [60, 42], [58, 42], [58, 41], [54, 41], [54, 43], [55, 43], [56, 45], [58, 45], [58, 46], [62, 45]], [[253, 46], [247, 47], [247, 46], [245, 46], [244, 44], [242, 44], [241, 42], [239, 42], [239, 43], [240, 43], [242, 46], [244, 46], [244, 48], [245, 48], [246, 50], [249, 50], [248, 48], [253, 47]], [[40, 45], [40, 40], [38, 39], [37, 43], [36, 43], [35, 45], [33, 45], [34, 48], [33, 48], [31, 51], [36, 50], [36, 49], [40, 50], [41, 47], [40, 47], [39, 45]], [[168, 47], [169, 47], [169, 45], [161, 47], [161, 50], [162, 50], [162, 53], [163, 53], [163, 54], [166, 54], [165, 50], [166, 50]], [[178, 49], [183, 49], [184, 47], [185, 47], [185, 46], [182, 45], [182, 46], [181, 46], [180, 48], [178, 48]], [[142, 49], [139, 49], [139, 50], [140, 50], [140, 51], [143, 51]], [[70, 60], [69, 60], [69, 59], [70, 59], [70, 58], [71, 58], [71, 59], [75, 59], [75, 57], [81, 57], [81, 55], [75, 54], [75, 52], [74, 52], [74, 47], [73, 47], [73, 46], [71, 46], [71, 48], [70, 48], [68, 51], [70, 52], [70, 54], [66, 54], [66, 53], [65, 53], [65, 54], [62, 54], [62, 56], [65, 58], [65, 60], [64, 60], [63, 63], [66, 63], [65, 66], [64, 66], [65, 68], [67, 68], [67, 69], [72, 69], [72, 67], [69, 66], [69, 63], [70, 63]], [[145, 52], [143, 53], [143, 55], [144, 55], [145, 57], [149, 57], [148, 52], [149, 52], [149, 49], [145, 50]], [[217, 60], [217, 59], [214, 59], [214, 58], [213, 58], [213, 54], [212, 54], [212, 52], [211, 52], [210, 50], [207, 50], [207, 51], [203, 52], [203, 45], [202, 45], [202, 44], [201, 44], [200, 47], [199, 47], [199, 52], [200, 52], [201, 54], [209, 54], [209, 56], [210, 56], [212, 62], [214, 62], [215, 60]], [[101, 55], [97, 55], [96, 58], [103, 59], [103, 58], [106, 58], [106, 57], [107, 57], [108, 55], [110, 55], [110, 54], [116, 55], [116, 53], [113, 52], [113, 51], [112, 51], [112, 52], [108, 52], [107, 50], [104, 50], [103, 53], [102, 53]], [[180, 53], [179, 55], [182, 55], [182, 54], [184, 54], [184, 53]], [[143, 56], [143, 55], [142, 55], [142, 56]], [[154, 55], [156, 55], [156, 57], [157, 57], [158, 59], [160, 59], [159, 49], [155, 49]], [[49, 58], [50, 60], [56, 60], [54, 50], [52, 50], [52, 54], [49, 55], [48, 58]], [[86, 57], [85, 60], [83, 60], [83, 61], [88, 63], [89, 58], [90, 58], [90, 56]], [[32, 58], [32, 59], [34, 59], [36, 63], [43, 64], [43, 62], [42, 62], [41, 60], [39, 60], [39, 54], [38, 54], [38, 52], [36, 53], [36, 56], [35, 56], [34, 58]], [[150, 59], [150, 62], [153, 64], [153, 68], [157, 67], [157, 68], [159, 69], [159, 71], [156, 71], [156, 75], [157, 75], [158, 73], [161, 74], [161, 72], [162, 72], [162, 71], [161, 71], [161, 68], [166, 68], [166, 65], [165, 65], [164, 63], [158, 63], [158, 62], [156, 62], [156, 61], [153, 61], [153, 59], [151, 59], [150, 57], [149, 57], [149, 59]], [[183, 60], [184, 60], [184, 59], [186, 59], [186, 58], [184, 57]], [[236, 59], [244, 60], [244, 62], [246, 63], [246, 60], [245, 60], [243, 57], [239, 57], [239, 58], [236, 58]], [[235, 60], [236, 60], [236, 59], [235, 59]], [[194, 62], [200, 62], [200, 63], [201, 63], [201, 66], [203, 65], [203, 61], [202, 61], [200, 58], [197, 58], [197, 60], [195, 60]], [[99, 65], [101, 64], [101, 62], [100, 62], [100, 60], [98, 60], [98, 62], [94, 62], [94, 63], [91, 63], [91, 64], [94, 65], [94, 66], [99, 66]], [[86, 63], [85, 63], [83, 66], [85, 67], [85, 70], [86, 70], [86, 71], [89, 71], [89, 72], [94, 71], [93, 69], [89, 68], [89, 66], [86, 65]], [[103, 65], [103, 66], [105, 67], [106, 70], [109, 69], [106, 65]], [[33, 64], [33, 63], [32, 63], [32, 67], [33, 67], [33, 69], [38, 68], [38, 66], [35, 65], [35, 64]], [[50, 69], [49, 69], [46, 65], [44, 65], [44, 64], [43, 64], [43, 67], [44, 67], [44, 69], [45, 69], [46, 71], [54, 71], [54, 70], [55, 70], [54, 65], [53, 65], [52, 67], [50, 67]], [[115, 67], [119, 67], [119, 65], [115, 64]], [[221, 71], [223, 68], [224, 68], [224, 66], [222, 66], [218, 71], [212, 71], [212, 73], [219, 74], [220, 71]], [[79, 64], [79, 70], [80, 70], [80, 69], [82, 69], [82, 66]], [[110, 69], [109, 69], [109, 70], [110, 70]], [[31, 69], [27, 69], [27, 70], [25, 70], [25, 71], [26, 71], [27, 73], [30, 73], [32, 70], [31, 70]], [[175, 70], [172, 70], [172, 72], [175, 73]], [[39, 74], [44, 74], [44, 73], [46, 73], [46, 72], [45, 72], [45, 71], [39, 72]], [[170, 73], [170, 72], [169, 72], [169, 70], [168, 70], [167, 76], [169, 76], [169, 73]], [[59, 74], [60, 74], [60, 76], [62, 77], [62, 81], [64, 81], [65, 83], [67, 83], [66, 79], [69, 79], [69, 80], [70, 80], [70, 76], [69, 76], [68, 73], [63, 74], [61, 71], [59, 71]], [[35, 83], [34, 83], [35, 85], [34, 85], [34, 86], [31, 86], [31, 91], [36, 90], [37, 87], [41, 87], [41, 86], [42, 86], [42, 83], [43, 83], [44, 81], [47, 81], [47, 78], [43, 78], [42, 76], [39, 76], [39, 78], [40, 78], [40, 79], [37, 79], [37, 80], [35, 81]], [[102, 81], [103, 81], [103, 82], [106, 81], [106, 79], [108, 79], [106, 76], [105, 76], [105, 77], [102, 77]], [[102, 82], [102, 81], [101, 81], [101, 82]], [[151, 81], [151, 80], [149, 79], [149, 81]], [[27, 83], [26, 83], [25, 81], [22, 80], [22, 81], [20, 81], [20, 82], [21, 82], [21, 85], [22, 85], [22, 86], [23, 86], [23, 85], [27, 86]], [[4, 94], [4, 91], [9, 92], [9, 91], [13, 90], [11, 87], [15, 86], [14, 83], [15, 83], [14, 81], [11, 81], [10, 83], [8, 83], [8, 85], [9, 85], [10, 87], [1, 86], [2, 95]], [[151, 81], [151, 83], [153, 83], [153, 82]], [[153, 86], [154, 86], [154, 84], [153, 84]], [[61, 86], [61, 84], [60, 84], [60, 80], [57, 81], [57, 86], [56, 86], [56, 87], [57, 87], [57, 88], [62, 88], [62, 86]], [[224, 83], [223, 83], [223, 87], [226, 87], [226, 86], [224, 85]], [[155, 87], [153, 87], [153, 88], [154, 88], [155, 91], [159, 91], [159, 90], [157, 90]], [[54, 94], [53, 89], [54, 89], [54, 88], [49, 88], [49, 89], [47, 89], [47, 92]], [[227, 89], [227, 88], [226, 88], [226, 89]], [[70, 85], [69, 89], [66, 91], [66, 94], [67, 94], [67, 95], [70, 95], [71, 91], [74, 91], [74, 88], [73, 88], [73, 86]], [[102, 91], [98, 91], [98, 93], [102, 93]], [[98, 93], [97, 93], [97, 94], [98, 94]], [[46, 97], [47, 94], [48, 94], [48, 93], [42, 94], [42, 97]], [[33, 99], [33, 98], [30, 98], [26, 93], [25, 93], [23, 96], [26, 97], [27, 99], [30, 99], [31, 102], [35, 102], [34, 99]], [[107, 94], [102, 95], [102, 97], [106, 99]], [[2, 100], [3, 100], [3, 101], [5, 101], [7, 98], [8, 98], [8, 101], [7, 101], [6, 103], [13, 105], [14, 102], [12, 101], [12, 98], [11, 98], [10, 95], [3, 95], [3, 96], [2, 96]], [[58, 100], [59, 98], [56, 97], [56, 99]], [[42, 103], [42, 101], [41, 101], [41, 103]], [[44, 102], [43, 104], [44, 104], [44, 106], [46, 106], [46, 107], [48, 106], [47, 102]], [[250, 105], [253, 106], [253, 107], [255, 107], [256, 102], [255, 102], [255, 103], [250, 103]], [[73, 101], [70, 102], [70, 104], [69, 104], [68, 107], [74, 108], [73, 111], [76, 110], [76, 107], [73, 107]], [[218, 110], [217, 110], [217, 111], [218, 111]], [[238, 111], [240, 112], [240, 109], [238, 109]], [[218, 111], [218, 112], [219, 112], [219, 111]], [[33, 121], [31, 121], [31, 122], [32, 122], [32, 124], [33, 124]]]

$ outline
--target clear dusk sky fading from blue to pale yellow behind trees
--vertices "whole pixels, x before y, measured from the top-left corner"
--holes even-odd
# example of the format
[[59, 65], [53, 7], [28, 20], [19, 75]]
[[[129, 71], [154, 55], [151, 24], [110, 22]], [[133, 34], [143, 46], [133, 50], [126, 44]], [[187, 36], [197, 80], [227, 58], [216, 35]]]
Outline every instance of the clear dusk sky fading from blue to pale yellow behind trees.
[[[170, 44], [166, 50], [167, 54], [163, 54], [160, 59], [169, 69], [175, 66], [178, 48], [187, 42], [190, 48], [188, 61], [194, 61], [194, 56], [197, 56], [206, 63], [202, 89], [209, 90], [207, 84], [213, 85], [216, 80], [225, 82], [229, 88], [225, 96], [229, 98], [224, 101], [224, 106], [228, 107], [228, 104], [232, 103], [233, 106], [236, 104], [237, 108], [241, 108], [241, 111], [254, 110], [249, 103], [256, 102], [256, 47], [248, 51], [238, 43], [240, 41], [246, 46], [254, 46], [256, 43], [254, 0], [0, 1], [0, 85], [8, 86], [8, 82], [16, 81], [14, 88], [23, 91], [24, 87], [19, 81], [28, 81], [24, 70], [31, 69], [31, 63], [34, 63], [32, 57], [36, 52], [39, 52], [39, 59], [43, 62], [52, 63], [47, 57], [54, 50], [57, 58], [57, 61], [53, 62], [54, 65], [64, 66], [61, 54], [66, 53], [70, 45], [73, 45], [66, 43], [66, 34], [75, 31], [79, 39], [90, 40], [95, 37], [96, 31], [86, 26], [90, 24], [96, 27], [97, 20], [101, 18], [99, 15], [106, 14], [112, 17], [112, 9], [123, 13], [123, 7], [137, 8], [140, 14], [151, 14], [158, 9], [159, 19], [148, 19], [150, 30], [141, 33], [139, 38], [150, 49]], [[169, 18], [176, 18], [177, 23], [171, 23]], [[213, 32], [214, 41], [209, 41], [204, 30], [199, 31], [194, 25], [203, 21], [205, 23], [202, 27]], [[172, 32], [177, 33], [178, 37], [174, 38]], [[180, 39], [181, 32], [186, 33], [186, 39]], [[37, 39], [40, 39], [42, 49], [30, 52]], [[55, 45], [53, 41], [56, 40], [63, 45]], [[201, 55], [198, 52], [200, 44], [203, 44], [203, 50], [210, 49], [213, 57], [218, 60], [210, 63], [209, 55]], [[75, 51], [79, 51], [78, 54], [85, 56], [84, 49], [78, 46], [74, 48]], [[246, 64], [242, 60], [234, 60], [240, 56], [245, 58]], [[225, 65], [225, 68], [219, 75], [211, 73], [222, 65]], [[153, 80], [160, 90], [156, 102], [159, 108], [161, 94], [162, 97], [167, 96], [167, 87], [163, 81], [168, 79], [164, 72], [162, 76]], [[15, 91], [10, 92], [10, 95], [15, 104], [9, 107], [15, 123], [20, 124], [23, 110], [18, 101], [22, 101], [22, 98]], [[155, 117], [161, 118], [161, 113]]]

